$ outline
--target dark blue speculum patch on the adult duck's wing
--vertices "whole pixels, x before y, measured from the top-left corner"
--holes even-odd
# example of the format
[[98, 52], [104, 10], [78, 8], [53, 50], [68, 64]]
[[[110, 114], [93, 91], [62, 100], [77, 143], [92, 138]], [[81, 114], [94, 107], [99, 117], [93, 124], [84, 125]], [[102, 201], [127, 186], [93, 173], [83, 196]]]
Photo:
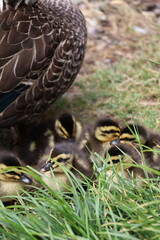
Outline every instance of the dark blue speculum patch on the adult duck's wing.
[[12, 103], [19, 95], [22, 94], [29, 86], [20, 84], [10, 92], [0, 93], [0, 112], [2, 112], [10, 103]]

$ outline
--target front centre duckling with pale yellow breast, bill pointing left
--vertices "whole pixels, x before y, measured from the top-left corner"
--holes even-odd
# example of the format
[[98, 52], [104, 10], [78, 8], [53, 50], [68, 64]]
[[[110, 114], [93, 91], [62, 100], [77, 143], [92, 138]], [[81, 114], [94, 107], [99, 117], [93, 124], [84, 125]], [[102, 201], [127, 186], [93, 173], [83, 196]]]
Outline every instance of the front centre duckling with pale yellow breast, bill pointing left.
[[[79, 157], [81, 156], [78, 155], [78, 149], [70, 142], [55, 144], [54, 149], [51, 151], [50, 158], [41, 169], [41, 172], [44, 174], [42, 180], [53, 191], [68, 191], [66, 186], [70, 186], [70, 181], [65, 170], [71, 170], [72, 173], [78, 177], [76, 174], [76, 169], [78, 169], [77, 165], [80, 165], [79, 170], [81, 170], [84, 165], [84, 162], [81, 162]], [[84, 170], [86, 171], [86, 165]]]

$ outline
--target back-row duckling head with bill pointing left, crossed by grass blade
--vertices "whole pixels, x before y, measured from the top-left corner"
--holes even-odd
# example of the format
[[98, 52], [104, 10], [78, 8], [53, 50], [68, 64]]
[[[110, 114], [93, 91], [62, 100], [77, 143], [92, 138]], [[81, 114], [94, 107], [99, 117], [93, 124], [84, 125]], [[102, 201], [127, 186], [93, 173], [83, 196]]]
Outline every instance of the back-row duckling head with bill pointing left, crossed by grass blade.
[[118, 143], [132, 143], [138, 144], [141, 143], [145, 145], [147, 142], [147, 131], [141, 125], [129, 124], [127, 127], [122, 129], [120, 137], [113, 140], [111, 145]]

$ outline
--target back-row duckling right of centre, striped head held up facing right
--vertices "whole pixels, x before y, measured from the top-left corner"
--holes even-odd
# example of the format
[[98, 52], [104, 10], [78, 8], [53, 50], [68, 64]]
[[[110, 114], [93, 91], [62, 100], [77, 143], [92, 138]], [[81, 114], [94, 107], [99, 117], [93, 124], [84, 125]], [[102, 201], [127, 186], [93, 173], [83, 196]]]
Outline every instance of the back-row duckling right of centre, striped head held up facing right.
[[120, 127], [118, 123], [115, 120], [104, 117], [98, 119], [94, 124], [87, 126], [82, 131], [78, 146], [83, 151], [88, 153], [89, 151], [97, 152], [104, 157], [106, 149], [110, 147], [110, 142], [117, 139], [119, 135]]

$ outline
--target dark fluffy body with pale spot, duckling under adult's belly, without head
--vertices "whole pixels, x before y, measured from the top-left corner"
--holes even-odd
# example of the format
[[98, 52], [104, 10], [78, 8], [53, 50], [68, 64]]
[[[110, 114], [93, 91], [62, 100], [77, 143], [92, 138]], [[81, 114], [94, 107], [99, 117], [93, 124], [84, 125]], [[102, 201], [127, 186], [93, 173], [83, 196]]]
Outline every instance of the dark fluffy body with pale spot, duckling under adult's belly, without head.
[[39, 170], [54, 147], [54, 136], [46, 122], [37, 125], [19, 125], [20, 141], [12, 150], [22, 159], [23, 166], [29, 165]]

